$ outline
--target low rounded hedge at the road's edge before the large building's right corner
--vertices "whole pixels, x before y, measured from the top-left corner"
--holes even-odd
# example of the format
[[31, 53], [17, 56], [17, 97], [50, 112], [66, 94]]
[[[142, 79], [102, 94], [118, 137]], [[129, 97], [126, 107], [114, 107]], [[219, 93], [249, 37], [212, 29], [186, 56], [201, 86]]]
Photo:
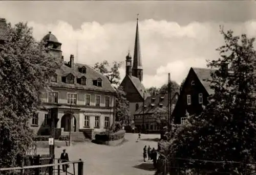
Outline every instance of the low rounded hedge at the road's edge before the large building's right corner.
[[121, 138], [123, 138], [125, 135], [125, 130], [119, 130], [115, 133], [110, 133], [110, 135], [108, 134], [108, 132], [105, 132], [104, 134], [96, 134], [95, 135], [95, 140], [101, 140], [101, 141], [113, 141], [113, 140], [119, 140]]

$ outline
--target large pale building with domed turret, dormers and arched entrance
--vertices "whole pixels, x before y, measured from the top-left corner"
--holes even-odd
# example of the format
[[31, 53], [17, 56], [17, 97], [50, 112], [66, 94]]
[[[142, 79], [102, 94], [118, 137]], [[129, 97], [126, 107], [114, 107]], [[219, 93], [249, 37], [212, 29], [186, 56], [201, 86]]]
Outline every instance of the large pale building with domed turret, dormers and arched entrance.
[[115, 89], [103, 74], [86, 64], [63, 61], [61, 43], [49, 32], [46, 46], [61, 59], [61, 67], [52, 76], [49, 90], [42, 93], [42, 106], [31, 119], [31, 128], [38, 135], [49, 135], [51, 119], [55, 121], [55, 137], [69, 132], [85, 132], [92, 137], [115, 121]]

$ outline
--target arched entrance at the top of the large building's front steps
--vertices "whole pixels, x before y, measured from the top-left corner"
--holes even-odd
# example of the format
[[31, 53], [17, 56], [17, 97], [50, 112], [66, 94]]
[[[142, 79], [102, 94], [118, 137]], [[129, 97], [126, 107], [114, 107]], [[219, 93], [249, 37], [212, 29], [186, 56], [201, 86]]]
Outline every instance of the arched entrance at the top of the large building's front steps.
[[61, 117], [60, 128], [63, 128], [64, 131], [76, 132], [76, 117], [71, 114], [65, 114]]

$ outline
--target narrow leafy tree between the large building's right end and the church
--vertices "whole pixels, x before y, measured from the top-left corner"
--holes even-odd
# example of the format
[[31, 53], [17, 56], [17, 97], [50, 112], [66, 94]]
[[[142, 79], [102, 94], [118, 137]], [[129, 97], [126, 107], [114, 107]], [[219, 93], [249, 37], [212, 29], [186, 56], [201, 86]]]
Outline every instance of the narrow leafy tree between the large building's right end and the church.
[[121, 124], [131, 124], [131, 118], [129, 113], [129, 102], [126, 100], [125, 92], [122, 86], [116, 88], [116, 119], [120, 121]]

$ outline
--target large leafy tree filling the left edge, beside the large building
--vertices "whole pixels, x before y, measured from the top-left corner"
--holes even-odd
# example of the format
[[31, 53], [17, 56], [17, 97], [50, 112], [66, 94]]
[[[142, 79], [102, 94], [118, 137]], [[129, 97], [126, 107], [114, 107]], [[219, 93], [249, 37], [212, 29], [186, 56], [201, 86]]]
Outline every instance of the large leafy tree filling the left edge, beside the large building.
[[59, 66], [27, 23], [8, 24], [8, 40], [0, 44], [0, 167], [15, 166], [17, 154], [30, 148], [30, 119]]

